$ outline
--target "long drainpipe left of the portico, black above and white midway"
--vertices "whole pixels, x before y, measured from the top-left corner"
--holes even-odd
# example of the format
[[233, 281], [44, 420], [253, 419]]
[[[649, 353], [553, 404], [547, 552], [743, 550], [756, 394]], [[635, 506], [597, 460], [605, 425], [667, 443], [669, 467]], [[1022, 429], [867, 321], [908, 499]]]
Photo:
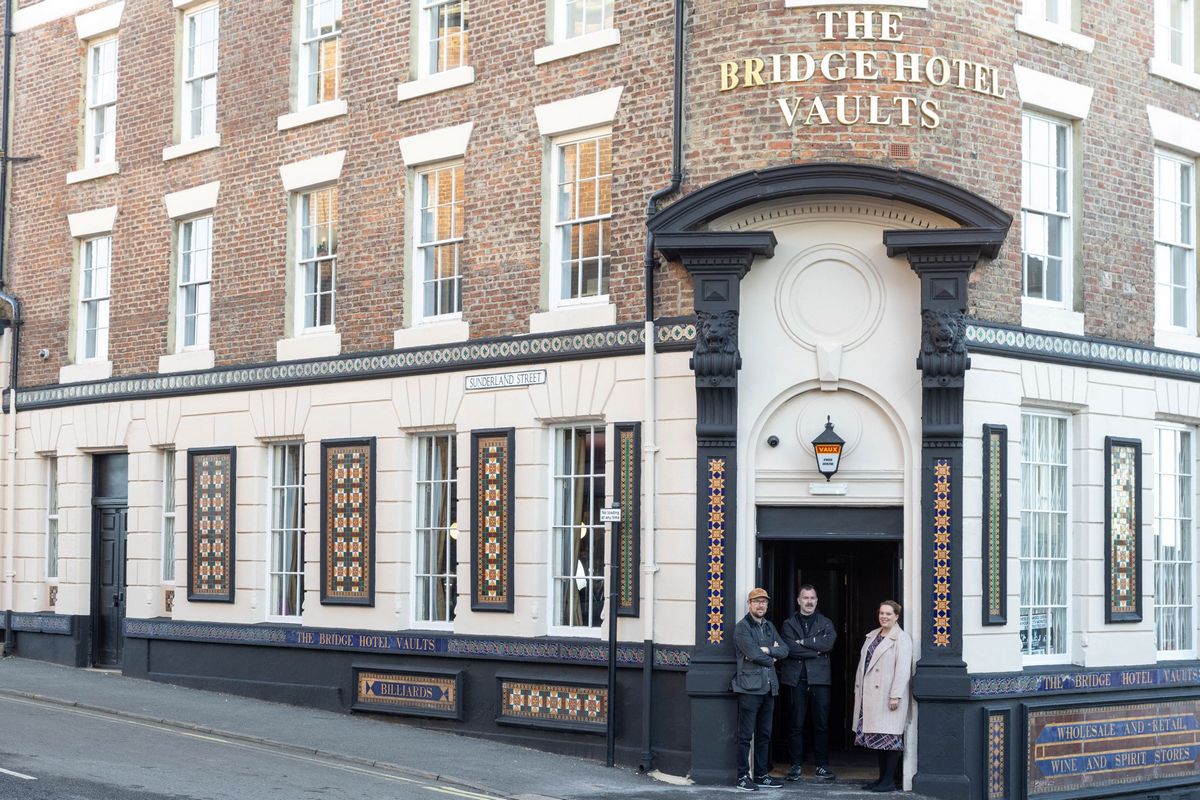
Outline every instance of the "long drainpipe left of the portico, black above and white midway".
[[649, 221], [659, 211], [659, 203], [679, 191], [683, 184], [683, 11], [684, 0], [674, 4], [674, 86], [671, 100], [671, 184], [650, 196], [646, 207], [646, 425], [642, 443], [642, 476], [646, 489], [646, 563], [642, 573], [646, 576], [646, 609], [642, 613], [642, 758], [638, 769], [643, 772], [654, 770], [654, 738], [652, 732], [652, 698], [654, 697], [654, 576], [659, 571], [655, 561], [655, 506], [658, 500], [658, 404], [656, 372], [654, 363], [654, 270], [658, 259], [654, 257], [654, 234]]

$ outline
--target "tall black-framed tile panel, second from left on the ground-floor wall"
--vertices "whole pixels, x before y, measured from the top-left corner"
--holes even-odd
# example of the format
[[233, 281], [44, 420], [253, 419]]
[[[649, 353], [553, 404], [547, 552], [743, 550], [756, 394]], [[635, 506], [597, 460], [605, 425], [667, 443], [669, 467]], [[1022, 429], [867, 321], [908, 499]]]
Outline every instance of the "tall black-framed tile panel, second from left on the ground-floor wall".
[[374, 604], [374, 437], [320, 443], [320, 602]]

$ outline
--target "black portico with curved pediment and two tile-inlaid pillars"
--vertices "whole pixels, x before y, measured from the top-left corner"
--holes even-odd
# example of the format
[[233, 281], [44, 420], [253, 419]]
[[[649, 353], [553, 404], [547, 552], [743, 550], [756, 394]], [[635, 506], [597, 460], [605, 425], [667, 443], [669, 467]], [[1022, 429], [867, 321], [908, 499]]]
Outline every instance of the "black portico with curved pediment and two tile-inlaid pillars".
[[[658, 249], [691, 273], [696, 349], [696, 648], [688, 672], [692, 770], [702, 783], [732, 782], [736, 703], [732, 627], [740, 599], [737, 564], [738, 284], [756, 257], [774, 254], [770, 231], [725, 233], [709, 223], [750, 205], [814, 196], [863, 196], [917, 205], [959, 228], [886, 231], [888, 255], [905, 255], [920, 278], [922, 339], [922, 658], [913, 692], [922, 703], [919, 739], [937, 741], [919, 757], [914, 788], [942, 798], [974, 796], [968, 753], [977, 728], [962, 661], [962, 386], [970, 367], [965, 339], [967, 277], [994, 258], [1012, 217], [946, 181], [860, 164], [798, 164], [737, 175], [689, 194], [650, 222]], [[913, 309], [917, 311], [917, 309]], [[937, 501], [935, 501], [937, 500]]]

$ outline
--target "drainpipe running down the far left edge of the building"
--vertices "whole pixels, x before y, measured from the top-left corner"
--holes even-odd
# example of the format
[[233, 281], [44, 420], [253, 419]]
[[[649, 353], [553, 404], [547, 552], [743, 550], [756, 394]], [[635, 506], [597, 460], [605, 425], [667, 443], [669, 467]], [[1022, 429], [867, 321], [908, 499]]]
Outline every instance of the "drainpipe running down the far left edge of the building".
[[8, 413], [6, 437], [8, 439], [7, 492], [5, 497], [5, 563], [4, 563], [4, 607], [5, 628], [4, 645], [0, 655], [11, 655], [16, 649], [16, 637], [12, 631], [13, 582], [17, 578], [13, 552], [17, 543], [17, 367], [20, 363], [20, 301], [4, 290], [5, 267], [8, 265], [8, 168], [12, 160], [8, 156], [11, 144], [10, 115], [12, 113], [12, 0], [4, 4], [4, 109], [0, 112], [0, 302], [8, 306]]

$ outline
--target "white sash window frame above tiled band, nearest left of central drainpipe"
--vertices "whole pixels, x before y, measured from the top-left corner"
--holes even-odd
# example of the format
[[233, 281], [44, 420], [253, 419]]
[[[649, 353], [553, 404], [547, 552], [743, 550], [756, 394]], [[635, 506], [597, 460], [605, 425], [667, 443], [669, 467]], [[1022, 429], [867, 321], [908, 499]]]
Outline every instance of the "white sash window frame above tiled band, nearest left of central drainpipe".
[[[607, 213], [593, 213], [587, 216], [578, 216], [577, 209], [576, 213], [571, 213], [568, 217], [560, 216], [559, 209], [559, 193], [564, 184], [563, 179], [563, 154], [566, 148], [577, 148], [580, 144], [600, 140], [607, 138], [610, 146], [610, 162], [612, 161], [612, 128], [601, 127], [592, 128], [587, 131], [577, 131], [570, 134], [564, 134], [554, 137], [550, 142], [550, 307], [559, 308], [564, 306], [577, 306], [587, 303], [607, 303], [608, 291], [601, 290], [598, 294], [580, 294], [578, 296], [564, 296], [564, 284], [568, 281], [570, 270], [566, 267], [564, 261], [564, 246], [563, 246], [563, 230], [564, 228], [580, 228], [588, 224], [601, 224], [601, 230], [607, 229], [607, 235], [601, 233], [600, 237], [600, 253], [604, 264], [602, 277], [600, 279], [600, 285], [604, 287], [608, 284], [612, 279], [612, 249], [606, 249], [606, 246], [612, 242], [612, 173], [607, 174], [608, 179], [608, 211]], [[596, 151], [599, 158], [599, 150]], [[599, 169], [599, 167], [598, 167]], [[612, 164], [610, 163], [610, 169]], [[602, 180], [605, 175], [598, 174], [596, 180]], [[578, 182], [576, 181], [576, 205], [578, 205]], [[602, 194], [599, 192], [599, 186], [596, 186], [596, 198]], [[576, 234], [577, 235], [577, 234]], [[586, 282], [584, 282], [586, 283]]]

